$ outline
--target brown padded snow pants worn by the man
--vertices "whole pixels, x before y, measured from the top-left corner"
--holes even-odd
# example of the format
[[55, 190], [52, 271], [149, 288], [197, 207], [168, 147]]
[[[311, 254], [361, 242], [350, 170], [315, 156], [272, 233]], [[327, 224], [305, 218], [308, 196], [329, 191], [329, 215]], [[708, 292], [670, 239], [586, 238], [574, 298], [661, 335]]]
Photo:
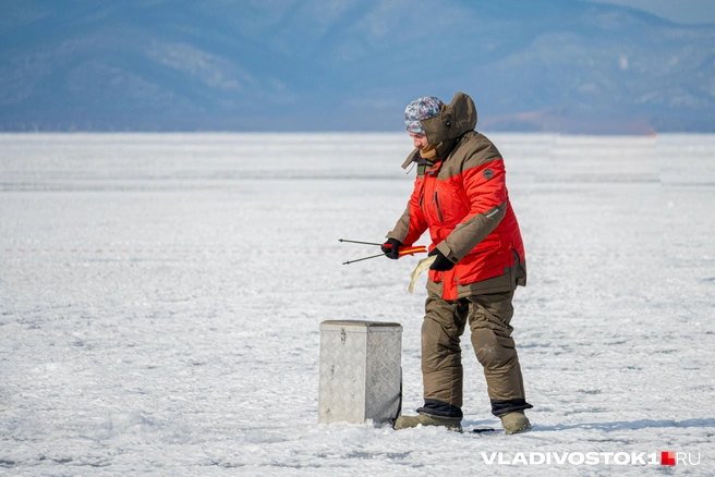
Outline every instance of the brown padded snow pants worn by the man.
[[462, 416], [460, 337], [469, 322], [476, 359], [484, 367], [492, 412], [499, 416], [532, 407], [524, 395], [519, 356], [509, 325], [513, 292], [445, 301], [429, 293], [422, 325], [425, 406], [420, 412]]

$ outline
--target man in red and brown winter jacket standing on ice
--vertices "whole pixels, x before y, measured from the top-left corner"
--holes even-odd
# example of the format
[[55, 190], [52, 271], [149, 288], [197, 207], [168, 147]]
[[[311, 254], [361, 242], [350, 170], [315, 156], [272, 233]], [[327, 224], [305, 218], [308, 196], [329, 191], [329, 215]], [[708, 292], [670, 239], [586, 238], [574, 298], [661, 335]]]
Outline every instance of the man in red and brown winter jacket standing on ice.
[[492, 413], [506, 433], [531, 428], [519, 357], [509, 325], [517, 285], [526, 284], [524, 246], [509, 201], [504, 160], [474, 131], [476, 109], [463, 93], [444, 105], [436, 97], [404, 111], [415, 149], [402, 164], [416, 164], [407, 210], [387, 234], [383, 252], [399, 258], [428, 229], [432, 237], [427, 301], [422, 325], [424, 406], [400, 416], [396, 429], [445, 426], [461, 431], [460, 335], [469, 323], [484, 367]]

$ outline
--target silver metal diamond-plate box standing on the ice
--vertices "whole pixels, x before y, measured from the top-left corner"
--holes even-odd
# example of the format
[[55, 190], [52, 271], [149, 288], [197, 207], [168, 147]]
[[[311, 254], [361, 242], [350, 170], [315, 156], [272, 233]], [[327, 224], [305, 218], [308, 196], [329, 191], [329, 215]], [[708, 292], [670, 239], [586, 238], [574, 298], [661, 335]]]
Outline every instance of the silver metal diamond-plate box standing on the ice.
[[400, 405], [401, 353], [399, 325], [320, 323], [318, 423], [383, 423], [395, 417]]

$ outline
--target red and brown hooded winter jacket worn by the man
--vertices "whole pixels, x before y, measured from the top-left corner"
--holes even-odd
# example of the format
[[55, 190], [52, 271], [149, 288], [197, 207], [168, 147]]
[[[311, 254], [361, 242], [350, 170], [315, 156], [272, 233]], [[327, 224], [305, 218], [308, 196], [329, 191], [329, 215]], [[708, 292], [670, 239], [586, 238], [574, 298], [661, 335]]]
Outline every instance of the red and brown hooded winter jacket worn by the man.
[[524, 245], [509, 201], [504, 159], [476, 126], [476, 109], [463, 93], [437, 117], [422, 121], [437, 160], [415, 149], [402, 164], [417, 163], [407, 210], [387, 234], [405, 246], [429, 229], [433, 244], [457, 264], [445, 272], [429, 270], [427, 290], [444, 299], [497, 293], [526, 284]]

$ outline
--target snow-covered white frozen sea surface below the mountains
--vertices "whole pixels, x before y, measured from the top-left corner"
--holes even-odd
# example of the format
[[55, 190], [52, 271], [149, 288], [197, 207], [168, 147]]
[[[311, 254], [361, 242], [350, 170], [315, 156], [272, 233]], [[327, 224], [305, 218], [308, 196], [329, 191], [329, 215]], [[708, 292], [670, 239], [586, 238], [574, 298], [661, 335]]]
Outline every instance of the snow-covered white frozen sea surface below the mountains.
[[[715, 474], [715, 136], [492, 138], [530, 273], [512, 437], [469, 433], [498, 427], [469, 340], [464, 435], [317, 424], [326, 319], [401, 322], [422, 404], [417, 259], [338, 242], [392, 228], [407, 136], [0, 135], [0, 474]], [[481, 454], [662, 451], [700, 464]]]

